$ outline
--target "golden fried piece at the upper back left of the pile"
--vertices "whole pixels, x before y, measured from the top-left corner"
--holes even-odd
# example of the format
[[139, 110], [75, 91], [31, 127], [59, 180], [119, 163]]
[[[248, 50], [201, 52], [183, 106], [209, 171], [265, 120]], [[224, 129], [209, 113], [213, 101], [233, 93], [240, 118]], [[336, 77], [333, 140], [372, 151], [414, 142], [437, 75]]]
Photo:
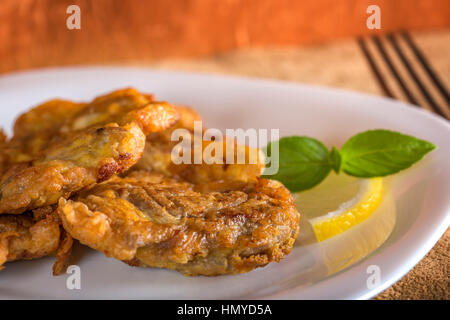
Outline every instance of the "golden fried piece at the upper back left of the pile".
[[151, 95], [132, 88], [113, 91], [89, 104], [51, 100], [16, 120], [14, 135], [7, 145], [8, 161], [34, 160], [48, 146], [91, 127], [136, 123], [148, 134], [170, 127], [177, 118], [173, 106], [155, 102]]

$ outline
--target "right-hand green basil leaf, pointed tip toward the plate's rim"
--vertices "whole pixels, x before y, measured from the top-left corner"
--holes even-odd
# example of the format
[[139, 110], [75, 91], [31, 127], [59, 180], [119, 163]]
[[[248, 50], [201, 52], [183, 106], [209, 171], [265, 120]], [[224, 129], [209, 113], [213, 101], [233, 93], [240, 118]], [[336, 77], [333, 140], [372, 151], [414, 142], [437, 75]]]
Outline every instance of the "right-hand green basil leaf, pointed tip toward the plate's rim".
[[370, 178], [406, 168], [436, 148], [432, 143], [389, 130], [369, 130], [351, 137], [341, 148], [342, 170]]

